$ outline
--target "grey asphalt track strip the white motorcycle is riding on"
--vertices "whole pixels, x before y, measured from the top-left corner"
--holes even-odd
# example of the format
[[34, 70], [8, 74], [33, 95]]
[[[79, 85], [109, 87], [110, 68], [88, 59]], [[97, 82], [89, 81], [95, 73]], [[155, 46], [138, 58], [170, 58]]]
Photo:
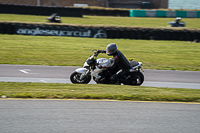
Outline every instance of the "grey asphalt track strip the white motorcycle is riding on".
[[[40, 65], [0, 65], [2, 82], [71, 83], [70, 74], [78, 67]], [[142, 86], [200, 89], [199, 71], [144, 70]], [[95, 84], [91, 81], [90, 84]]]

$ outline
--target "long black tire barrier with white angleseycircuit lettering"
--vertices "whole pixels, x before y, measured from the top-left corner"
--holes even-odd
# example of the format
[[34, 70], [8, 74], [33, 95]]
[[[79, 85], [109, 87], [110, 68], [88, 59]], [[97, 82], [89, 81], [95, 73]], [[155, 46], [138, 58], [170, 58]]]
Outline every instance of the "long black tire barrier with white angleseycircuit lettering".
[[142, 40], [200, 40], [200, 30], [155, 29], [134, 27], [93, 27], [56, 24], [28, 24], [0, 22], [0, 34], [34, 36], [70, 36], [110, 39]]

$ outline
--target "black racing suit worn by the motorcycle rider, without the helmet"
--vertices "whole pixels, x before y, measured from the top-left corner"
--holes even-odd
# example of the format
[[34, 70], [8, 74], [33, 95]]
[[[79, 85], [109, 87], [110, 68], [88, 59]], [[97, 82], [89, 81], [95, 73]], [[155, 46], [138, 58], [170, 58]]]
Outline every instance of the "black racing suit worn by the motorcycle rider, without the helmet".
[[[106, 53], [106, 51], [101, 50], [101, 53]], [[125, 82], [123, 76], [129, 73], [130, 70], [129, 61], [119, 50], [117, 50], [117, 52], [113, 54], [113, 59], [114, 61], [111, 65], [103, 68], [113, 69], [115, 67], [118, 67], [120, 70], [111, 76], [110, 78], [111, 83], [116, 83], [117, 81]]]

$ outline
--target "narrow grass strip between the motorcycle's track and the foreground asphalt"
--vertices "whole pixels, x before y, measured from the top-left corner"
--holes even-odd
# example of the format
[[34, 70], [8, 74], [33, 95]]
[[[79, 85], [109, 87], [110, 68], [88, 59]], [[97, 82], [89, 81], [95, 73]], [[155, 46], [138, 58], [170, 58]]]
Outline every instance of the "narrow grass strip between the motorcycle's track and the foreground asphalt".
[[0, 97], [200, 102], [198, 89], [0, 82]]

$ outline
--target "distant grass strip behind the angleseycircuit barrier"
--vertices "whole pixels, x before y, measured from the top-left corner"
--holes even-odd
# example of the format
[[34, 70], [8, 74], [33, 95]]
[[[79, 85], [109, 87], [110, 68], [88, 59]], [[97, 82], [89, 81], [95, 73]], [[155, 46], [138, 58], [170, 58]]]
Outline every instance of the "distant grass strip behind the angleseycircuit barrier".
[[[44, 23], [48, 16], [0, 14], [0, 21], [40, 22]], [[139, 27], [167, 27], [167, 22], [174, 18], [148, 17], [112, 17], [112, 16], [83, 16], [61, 17], [62, 24], [79, 25], [112, 25], [112, 26], [139, 26]], [[200, 18], [183, 18], [187, 28], [200, 28]]]

